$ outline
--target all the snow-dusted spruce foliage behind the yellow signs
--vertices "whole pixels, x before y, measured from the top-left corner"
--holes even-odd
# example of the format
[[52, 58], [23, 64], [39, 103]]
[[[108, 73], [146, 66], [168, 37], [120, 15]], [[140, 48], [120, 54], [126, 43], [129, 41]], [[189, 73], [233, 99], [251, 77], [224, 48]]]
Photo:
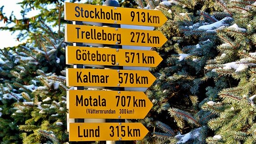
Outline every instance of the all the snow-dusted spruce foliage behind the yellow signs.
[[[64, 2], [19, 4], [22, 19], [5, 15], [0, 6], [0, 23], [6, 24], [0, 29], [19, 31], [17, 40], [28, 38], [25, 44], [0, 50], [0, 144], [66, 144], [65, 68], [70, 66], [65, 65], [65, 46], [70, 44], [64, 43], [63, 24], [70, 22], [64, 20]], [[168, 18], [155, 27], [168, 41], [152, 48], [163, 58], [151, 68], [157, 80], [146, 91], [154, 106], [144, 119], [129, 120], [142, 122], [150, 132], [143, 140], [126, 144], [256, 143], [255, 0], [119, 4], [161, 10]], [[32, 9], [41, 11], [27, 18]]]

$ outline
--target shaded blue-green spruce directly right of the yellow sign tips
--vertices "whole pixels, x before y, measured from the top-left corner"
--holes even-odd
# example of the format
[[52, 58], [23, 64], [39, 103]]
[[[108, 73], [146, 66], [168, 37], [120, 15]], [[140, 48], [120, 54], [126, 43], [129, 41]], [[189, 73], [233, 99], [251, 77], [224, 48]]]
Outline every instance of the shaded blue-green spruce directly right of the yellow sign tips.
[[[155, 3], [138, 3], [142, 8], [160, 9], [169, 20], [159, 30], [168, 37], [161, 48], [155, 48], [164, 59], [152, 69], [157, 82], [148, 96], [154, 106], [145, 119], [153, 132], [145, 141], [149, 143], [204, 144], [213, 135], [208, 121], [216, 113], [201, 107], [215, 99], [222, 83], [206, 73], [206, 63], [219, 53], [219, 28], [231, 21], [231, 15], [219, 8], [218, 1], [172, 0]], [[152, 142], [153, 141], [153, 142]]]

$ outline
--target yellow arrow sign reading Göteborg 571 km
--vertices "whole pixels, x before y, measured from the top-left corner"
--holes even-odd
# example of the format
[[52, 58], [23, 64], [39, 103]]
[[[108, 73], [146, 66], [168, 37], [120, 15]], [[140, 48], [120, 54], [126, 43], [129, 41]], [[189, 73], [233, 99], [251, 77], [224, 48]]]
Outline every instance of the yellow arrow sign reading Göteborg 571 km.
[[66, 47], [67, 64], [156, 67], [162, 60], [153, 50]]

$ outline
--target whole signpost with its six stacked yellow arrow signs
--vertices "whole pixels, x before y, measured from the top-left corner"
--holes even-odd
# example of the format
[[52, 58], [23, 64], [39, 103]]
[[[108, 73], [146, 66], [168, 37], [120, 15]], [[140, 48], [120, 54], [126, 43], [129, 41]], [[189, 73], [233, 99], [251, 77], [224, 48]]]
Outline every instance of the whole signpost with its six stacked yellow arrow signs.
[[[115, 4], [111, 4], [114, 2]], [[160, 31], [119, 28], [115, 24], [160, 27], [167, 18], [161, 11], [118, 7], [114, 0], [105, 5], [65, 3], [67, 91], [69, 141], [141, 140], [148, 130], [141, 123], [93, 122], [86, 119], [143, 119], [153, 104], [142, 91], [124, 91], [124, 88], [147, 88], [155, 81], [148, 70], [123, 70], [125, 67], [157, 67], [162, 58], [155, 51], [122, 49], [122, 45], [160, 47], [167, 39]], [[77, 22], [79, 21], [79, 22]], [[109, 23], [107, 27], [83, 25], [83, 22]], [[99, 24], [100, 25], [100, 24]], [[83, 43], [110, 45], [110, 48], [86, 47]], [[116, 67], [117, 69], [84, 68]], [[83, 90], [86, 87], [109, 87], [113, 90]], [[114, 90], [117, 89], [117, 90]]]

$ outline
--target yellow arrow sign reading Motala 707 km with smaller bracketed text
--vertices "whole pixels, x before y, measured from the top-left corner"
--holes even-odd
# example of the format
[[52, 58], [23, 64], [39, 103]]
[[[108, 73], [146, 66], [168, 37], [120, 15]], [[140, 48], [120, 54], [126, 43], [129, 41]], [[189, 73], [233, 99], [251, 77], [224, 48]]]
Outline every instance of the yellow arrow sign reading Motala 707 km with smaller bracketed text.
[[153, 104], [141, 91], [69, 90], [69, 118], [143, 119]]

